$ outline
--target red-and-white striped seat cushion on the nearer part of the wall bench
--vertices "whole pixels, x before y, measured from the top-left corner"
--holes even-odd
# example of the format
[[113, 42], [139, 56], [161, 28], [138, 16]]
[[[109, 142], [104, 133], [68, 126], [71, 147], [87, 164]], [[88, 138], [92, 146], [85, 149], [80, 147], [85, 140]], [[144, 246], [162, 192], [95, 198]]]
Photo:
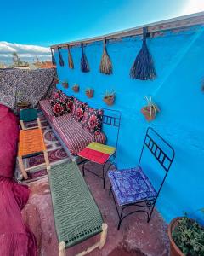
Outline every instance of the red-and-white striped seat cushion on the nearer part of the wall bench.
[[82, 128], [82, 125], [75, 119], [71, 118], [71, 114], [54, 118], [53, 126], [73, 155], [77, 155], [78, 152], [94, 141], [102, 144], [105, 143], [105, 135], [102, 132], [94, 136], [94, 134]]

